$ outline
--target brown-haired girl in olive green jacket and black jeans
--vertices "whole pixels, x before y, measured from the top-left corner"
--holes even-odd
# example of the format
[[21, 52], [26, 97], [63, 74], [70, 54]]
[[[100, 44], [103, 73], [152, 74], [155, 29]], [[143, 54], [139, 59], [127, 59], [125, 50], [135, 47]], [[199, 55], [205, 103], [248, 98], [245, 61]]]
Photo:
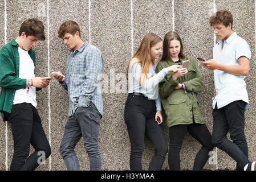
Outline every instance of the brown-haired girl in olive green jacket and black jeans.
[[202, 144], [194, 160], [193, 170], [202, 170], [213, 150], [211, 134], [205, 125], [198, 106], [197, 92], [202, 91], [203, 78], [196, 60], [184, 56], [180, 36], [176, 32], [168, 32], [164, 37], [162, 59], [157, 65], [156, 73], [170, 65], [182, 65], [189, 60], [189, 68], [180, 68], [170, 72], [159, 82], [159, 94], [167, 115], [169, 127], [170, 170], [180, 170], [180, 150], [186, 131]]

